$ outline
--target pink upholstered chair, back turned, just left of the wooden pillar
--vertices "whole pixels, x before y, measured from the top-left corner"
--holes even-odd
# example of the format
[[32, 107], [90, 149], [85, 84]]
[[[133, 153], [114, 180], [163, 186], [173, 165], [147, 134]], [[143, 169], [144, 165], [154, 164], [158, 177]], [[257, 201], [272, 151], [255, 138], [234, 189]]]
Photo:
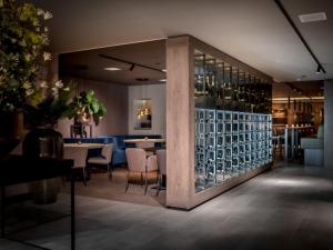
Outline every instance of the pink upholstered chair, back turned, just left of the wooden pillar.
[[138, 148], [125, 149], [125, 154], [127, 154], [128, 166], [129, 166], [128, 183], [125, 187], [125, 192], [128, 191], [130, 184], [143, 186], [143, 176], [144, 176], [144, 194], [145, 194], [148, 189], [149, 176], [155, 176], [151, 179], [153, 179], [154, 182], [157, 182], [157, 173], [158, 173], [157, 156], [151, 156], [147, 158], [145, 151], [143, 149], [138, 149]]

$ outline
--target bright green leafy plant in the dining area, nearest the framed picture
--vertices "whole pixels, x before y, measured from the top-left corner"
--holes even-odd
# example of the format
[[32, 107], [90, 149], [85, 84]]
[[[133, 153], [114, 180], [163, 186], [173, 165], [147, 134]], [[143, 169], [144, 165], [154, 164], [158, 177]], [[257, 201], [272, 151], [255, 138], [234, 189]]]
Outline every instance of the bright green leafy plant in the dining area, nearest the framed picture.
[[67, 112], [69, 118], [78, 118], [89, 113], [97, 126], [107, 113], [105, 106], [98, 100], [92, 90], [82, 91], [70, 103], [70, 108], [69, 112]]

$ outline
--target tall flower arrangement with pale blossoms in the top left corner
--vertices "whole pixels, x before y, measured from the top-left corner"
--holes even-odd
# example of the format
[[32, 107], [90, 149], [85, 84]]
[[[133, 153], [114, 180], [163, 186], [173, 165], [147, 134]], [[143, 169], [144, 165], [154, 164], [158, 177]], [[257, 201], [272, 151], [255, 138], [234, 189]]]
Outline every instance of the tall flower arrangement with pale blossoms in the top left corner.
[[39, 64], [51, 59], [43, 50], [51, 17], [32, 3], [0, 0], [0, 111], [21, 110], [36, 91]]

